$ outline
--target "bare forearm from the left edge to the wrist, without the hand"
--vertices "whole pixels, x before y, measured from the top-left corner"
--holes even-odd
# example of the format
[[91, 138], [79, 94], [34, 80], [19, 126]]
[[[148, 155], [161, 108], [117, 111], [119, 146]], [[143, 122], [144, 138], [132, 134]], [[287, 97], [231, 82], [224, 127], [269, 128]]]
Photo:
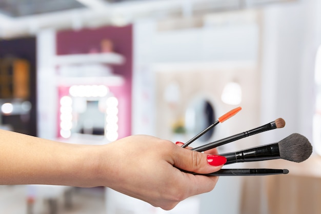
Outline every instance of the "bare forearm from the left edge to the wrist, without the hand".
[[97, 147], [0, 130], [0, 184], [94, 186]]

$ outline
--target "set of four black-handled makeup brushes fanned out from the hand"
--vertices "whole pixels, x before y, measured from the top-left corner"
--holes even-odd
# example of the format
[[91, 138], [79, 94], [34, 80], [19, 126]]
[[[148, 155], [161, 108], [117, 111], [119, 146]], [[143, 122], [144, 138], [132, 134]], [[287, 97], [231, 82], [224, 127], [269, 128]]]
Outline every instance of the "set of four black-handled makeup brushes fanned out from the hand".
[[[190, 145], [196, 139], [201, 137], [204, 133], [208, 130], [216, 126], [218, 123], [223, 123], [227, 119], [231, 118], [231, 116], [235, 115], [239, 112], [242, 108], [238, 107], [235, 108], [223, 116], [221, 116], [215, 123], [210, 125], [208, 128], [203, 130], [202, 132], [198, 133], [194, 138], [186, 142], [182, 145], [183, 148]], [[203, 152], [209, 149], [216, 148], [218, 146], [222, 146], [224, 144], [237, 141], [242, 138], [249, 137], [253, 134], [257, 134], [260, 132], [276, 129], [276, 128], [283, 128], [285, 126], [285, 121], [282, 118], [276, 119], [275, 121], [265, 124], [263, 126], [234, 134], [231, 137], [224, 138], [222, 140], [214, 141], [203, 146], [199, 146], [193, 148], [194, 151]], [[241, 162], [253, 162], [253, 161], [265, 161], [265, 160], [272, 160], [272, 159], [284, 159], [292, 162], [303, 162], [307, 160], [312, 153], [312, 145], [309, 140], [301, 134], [293, 133], [290, 134], [283, 140], [280, 140], [277, 143], [272, 143], [268, 145], [253, 147], [245, 150], [240, 150], [236, 152], [224, 153], [219, 154], [221, 156], [226, 157], [227, 164], [233, 163], [241, 163]], [[194, 172], [190, 172], [193, 174], [198, 174]], [[287, 174], [289, 173], [288, 169], [220, 169], [219, 171], [203, 174], [206, 176], [266, 176], [272, 174]]]

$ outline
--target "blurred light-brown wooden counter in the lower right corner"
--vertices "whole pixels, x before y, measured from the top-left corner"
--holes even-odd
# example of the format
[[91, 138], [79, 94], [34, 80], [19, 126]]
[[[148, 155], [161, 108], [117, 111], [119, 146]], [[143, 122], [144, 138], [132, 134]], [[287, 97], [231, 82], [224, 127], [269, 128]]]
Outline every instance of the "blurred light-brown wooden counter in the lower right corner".
[[275, 160], [272, 165], [290, 172], [266, 177], [266, 213], [321, 213], [321, 157], [314, 155], [302, 163]]

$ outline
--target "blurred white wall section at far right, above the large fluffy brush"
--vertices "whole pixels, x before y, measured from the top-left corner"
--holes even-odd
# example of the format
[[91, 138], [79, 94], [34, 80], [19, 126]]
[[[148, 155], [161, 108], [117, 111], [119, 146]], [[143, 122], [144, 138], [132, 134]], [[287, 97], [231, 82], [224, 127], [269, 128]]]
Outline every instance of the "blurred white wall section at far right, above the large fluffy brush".
[[312, 141], [319, 8], [319, 1], [310, 0], [263, 10], [262, 120], [277, 115], [286, 121], [282, 131], [262, 134], [263, 143], [293, 132]]

